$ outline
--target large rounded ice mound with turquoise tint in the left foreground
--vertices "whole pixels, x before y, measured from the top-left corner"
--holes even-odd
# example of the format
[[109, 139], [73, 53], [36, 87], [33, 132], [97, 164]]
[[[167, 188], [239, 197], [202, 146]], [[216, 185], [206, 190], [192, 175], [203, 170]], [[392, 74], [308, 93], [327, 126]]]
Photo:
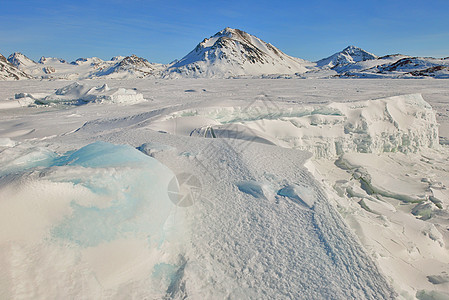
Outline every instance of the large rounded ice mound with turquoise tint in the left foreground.
[[[180, 264], [179, 250], [171, 257], [170, 249], [182, 236], [172, 221], [167, 187], [174, 174], [166, 166], [104, 142], [64, 155], [19, 144], [0, 152], [0, 162], [0, 227], [8, 228], [0, 230], [0, 268], [26, 272], [20, 283], [0, 283], [3, 296], [101, 298], [119, 293], [127, 278], [140, 278], [155, 298], [164, 295]], [[180, 212], [176, 218], [181, 224]], [[5, 263], [11, 255], [27, 259]], [[168, 269], [161, 273], [161, 266]], [[55, 290], [42, 290], [33, 272]], [[70, 279], [59, 278], [64, 274]], [[83, 288], [71, 290], [67, 282]]]

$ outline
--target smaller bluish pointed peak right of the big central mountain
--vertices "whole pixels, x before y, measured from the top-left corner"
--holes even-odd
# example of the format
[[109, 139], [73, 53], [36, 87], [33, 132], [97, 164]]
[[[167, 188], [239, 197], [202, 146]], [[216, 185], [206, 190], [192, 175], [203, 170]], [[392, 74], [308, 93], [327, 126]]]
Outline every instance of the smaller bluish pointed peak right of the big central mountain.
[[317, 66], [321, 68], [334, 69], [348, 64], [354, 64], [357, 62], [372, 60], [376, 58], [376, 55], [369, 53], [359, 47], [348, 46], [340, 52], [317, 61]]

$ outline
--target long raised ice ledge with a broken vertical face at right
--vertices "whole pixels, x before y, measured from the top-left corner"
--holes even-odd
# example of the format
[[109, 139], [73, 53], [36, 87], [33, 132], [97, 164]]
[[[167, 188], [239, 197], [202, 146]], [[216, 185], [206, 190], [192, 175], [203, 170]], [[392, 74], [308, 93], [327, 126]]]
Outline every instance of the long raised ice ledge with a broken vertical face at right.
[[274, 143], [328, 158], [347, 152], [409, 153], [439, 144], [435, 112], [420, 94], [324, 107], [200, 108], [152, 126], [173, 134]]

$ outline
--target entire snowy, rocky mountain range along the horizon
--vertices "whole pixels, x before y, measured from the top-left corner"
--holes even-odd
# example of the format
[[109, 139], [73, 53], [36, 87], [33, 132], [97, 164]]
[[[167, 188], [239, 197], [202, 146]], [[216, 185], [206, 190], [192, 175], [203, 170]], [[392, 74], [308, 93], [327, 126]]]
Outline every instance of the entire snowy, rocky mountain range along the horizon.
[[67, 62], [42, 57], [35, 62], [22, 53], [0, 54], [0, 80], [94, 78], [449, 78], [449, 57], [378, 57], [349, 46], [310, 62], [283, 53], [270, 43], [239, 29], [225, 28], [200, 42], [170, 64], [151, 63], [131, 55], [111, 60], [98, 57]]

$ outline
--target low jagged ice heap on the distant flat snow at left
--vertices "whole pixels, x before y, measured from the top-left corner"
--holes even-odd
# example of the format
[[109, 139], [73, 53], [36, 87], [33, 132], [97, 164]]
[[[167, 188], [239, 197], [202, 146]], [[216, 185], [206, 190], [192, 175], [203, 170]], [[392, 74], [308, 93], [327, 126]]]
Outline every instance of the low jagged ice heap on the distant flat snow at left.
[[21, 106], [27, 105], [82, 105], [86, 103], [136, 104], [145, 101], [143, 95], [132, 89], [109, 88], [107, 84], [88, 87], [78, 82], [57, 89], [54, 93], [18, 93], [14, 97]]

